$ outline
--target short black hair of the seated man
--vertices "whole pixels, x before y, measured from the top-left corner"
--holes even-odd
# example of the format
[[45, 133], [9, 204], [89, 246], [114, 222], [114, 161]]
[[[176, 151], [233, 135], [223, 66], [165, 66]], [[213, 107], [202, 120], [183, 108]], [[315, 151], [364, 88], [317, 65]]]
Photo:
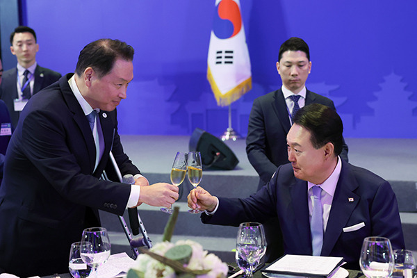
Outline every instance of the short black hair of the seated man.
[[315, 149], [331, 142], [334, 145], [334, 153], [341, 154], [343, 122], [334, 109], [322, 104], [309, 104], [295, 113], [293, 122], [310, 131], [311, 145]]

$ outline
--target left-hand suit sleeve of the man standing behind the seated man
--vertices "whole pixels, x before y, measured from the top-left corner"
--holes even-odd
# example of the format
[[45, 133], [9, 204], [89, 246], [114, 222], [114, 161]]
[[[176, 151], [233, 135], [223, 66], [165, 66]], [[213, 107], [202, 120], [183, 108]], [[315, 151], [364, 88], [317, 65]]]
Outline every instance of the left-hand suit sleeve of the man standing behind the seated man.
[[259, 99], [255, 99], [247, 126], [246, 154], [259, 177], [265, 183], [271, 179], [272, 174], [277, 170], [277, 166], [270, 161], [266, 154], [266, 141], [262, 105]]

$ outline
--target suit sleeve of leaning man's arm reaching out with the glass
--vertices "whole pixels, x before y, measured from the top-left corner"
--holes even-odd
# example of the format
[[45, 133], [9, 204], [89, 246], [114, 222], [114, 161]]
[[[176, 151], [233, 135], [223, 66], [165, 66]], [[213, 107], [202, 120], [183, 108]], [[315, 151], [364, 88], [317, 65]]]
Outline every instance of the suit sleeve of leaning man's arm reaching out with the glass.
[[[46, 179], [61, 197], [71, 202], [122, 215], [131, 186], [93, 177], [89, 167], [83, 164], [85, 161], [79, 161], [74, 155], [74, 151], [88, 154], [83, 138], [69, 136], [65, 120], [68, 117], [51, 111], [36, 111], [26, 116], [22, 134], [17, 136], [21, 136], [21, 148], [35, 166], [31, 170], [33, 175]], [[67, 140], [77, 140], [76, 150], [68, 147]], [[108, 208], [104, 206], [106, 203], [117, 204], [117, 208]]]

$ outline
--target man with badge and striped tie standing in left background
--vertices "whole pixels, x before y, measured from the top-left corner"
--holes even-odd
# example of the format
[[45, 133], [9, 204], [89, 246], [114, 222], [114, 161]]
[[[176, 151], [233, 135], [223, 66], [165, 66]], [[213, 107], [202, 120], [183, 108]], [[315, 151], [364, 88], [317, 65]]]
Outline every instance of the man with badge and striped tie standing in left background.
[[43, 88], [58, 81], [61, 76], [60, 73], [40, 67], [36, 63], [38, 50], [36, 33], [32, 28], [19, 26], [10, 34], [10, 51], [17, 58], [17, 67], [4, 72], [0, 99], [8, 107], [13, 128], [17, 126], [19, 115], [27, 100]]

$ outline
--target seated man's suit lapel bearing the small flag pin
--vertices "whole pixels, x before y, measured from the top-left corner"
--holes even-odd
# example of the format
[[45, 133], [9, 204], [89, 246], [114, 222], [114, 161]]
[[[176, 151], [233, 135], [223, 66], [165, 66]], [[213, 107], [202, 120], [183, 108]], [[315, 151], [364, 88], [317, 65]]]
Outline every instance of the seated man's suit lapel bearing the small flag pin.
[[323, 238], [322, 256], [329, 256], [339, 236], [346, 227], [352, 211], [359, 203], [361, 197], [354, 193], [358, 188], [357, 181], [352, 178], [349, 171], [349, 164], [342, 161], [341, 175], [338, 179], [336, 190], [327, 221], [326, 232]]

